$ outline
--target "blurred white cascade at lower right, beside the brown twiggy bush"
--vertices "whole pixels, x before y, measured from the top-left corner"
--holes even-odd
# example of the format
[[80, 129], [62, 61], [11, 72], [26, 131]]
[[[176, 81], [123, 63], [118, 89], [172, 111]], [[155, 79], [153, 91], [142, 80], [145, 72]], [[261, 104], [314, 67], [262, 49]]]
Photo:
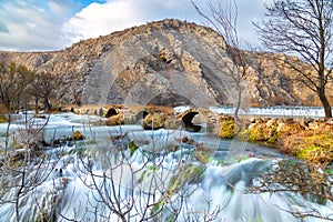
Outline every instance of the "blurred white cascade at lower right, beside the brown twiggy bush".
[[[189, 198], [190, 211], [214, 214], [219, 208], [215, 221], [303, 221], [289, 212], [311, 212], [312, 209], [316, 209], [319, 215], [332, 216], [332, 203], [315, 204], [291, 192], [245, 192], [253, 179], [260, 178], [274, 162], [251, 158], [229, 167], [208, 167], [202, 183]], [[325, 221], [315, 218], [307, 220]]]

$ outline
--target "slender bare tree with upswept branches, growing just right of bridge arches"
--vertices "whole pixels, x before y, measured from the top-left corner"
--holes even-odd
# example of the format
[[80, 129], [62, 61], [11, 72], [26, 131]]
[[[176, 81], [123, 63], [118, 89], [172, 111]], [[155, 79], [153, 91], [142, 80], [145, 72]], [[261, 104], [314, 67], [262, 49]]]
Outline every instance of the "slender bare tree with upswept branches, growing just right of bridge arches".
[[216, 4], [208, 0], [208, 12], [204, 12], [195, 1], [191, 0], [191, 2], [196, 12], [224, 38], [226, 43], [225, 50], [232, 60], [232, 65], [229, 65], [229, 75], [233, 79], [238, 92], [234, 111], [235, 120], [238, 120], [244, 91], [242, 82], [246, 79], [250, 67], [246, 52], [241, 50], [238, 32], [238, 4], [234, 0], [221, 0]]

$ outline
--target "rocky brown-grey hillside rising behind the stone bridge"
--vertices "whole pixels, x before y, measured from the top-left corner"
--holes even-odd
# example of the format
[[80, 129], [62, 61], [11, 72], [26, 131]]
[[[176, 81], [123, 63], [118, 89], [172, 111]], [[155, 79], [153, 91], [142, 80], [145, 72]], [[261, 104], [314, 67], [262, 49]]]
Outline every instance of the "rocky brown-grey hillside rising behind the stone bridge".
[[[320, 104], [314, 93], [291, 81], [294, 73], [284, 68], [283, 56], [246, 53], [251, 68], [243, 83], [244, 104]], [[223, 38], [210, 28], [173, 19], [80, 41], [62, 51], [0, 52], [0, 60], [58, 75], [62, 103], [79, 98], [90, 104], [208, 107], [233, 104], [236, 98]]]

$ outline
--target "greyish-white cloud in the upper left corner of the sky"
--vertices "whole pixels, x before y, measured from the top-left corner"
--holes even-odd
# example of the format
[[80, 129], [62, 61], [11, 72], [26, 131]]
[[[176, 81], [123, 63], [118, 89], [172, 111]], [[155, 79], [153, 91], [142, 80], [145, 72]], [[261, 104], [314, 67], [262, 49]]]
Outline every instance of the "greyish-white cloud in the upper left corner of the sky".
[[61, 30], [64, 20], [70, 17], [68, 9], [52, 3], [50, 6], [53, 11], [49, 11], [47, 4], [31, 1], [1, 2], [0, 18], [4, 31], [0, 31], [0, 50], [54, 50], [71, 43]]

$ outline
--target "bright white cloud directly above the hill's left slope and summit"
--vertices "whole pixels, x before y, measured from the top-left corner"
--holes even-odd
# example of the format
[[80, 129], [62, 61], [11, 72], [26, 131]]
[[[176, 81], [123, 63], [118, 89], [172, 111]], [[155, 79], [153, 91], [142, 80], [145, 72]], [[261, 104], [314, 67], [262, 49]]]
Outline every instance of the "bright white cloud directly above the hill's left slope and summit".
[[[190, 10], [189, 10], [190, 8]], [[94, 38], [164, 18], [186, 18], [189, 0], [110, 0], [91, 3], [63, 26], [73, 40]]]

